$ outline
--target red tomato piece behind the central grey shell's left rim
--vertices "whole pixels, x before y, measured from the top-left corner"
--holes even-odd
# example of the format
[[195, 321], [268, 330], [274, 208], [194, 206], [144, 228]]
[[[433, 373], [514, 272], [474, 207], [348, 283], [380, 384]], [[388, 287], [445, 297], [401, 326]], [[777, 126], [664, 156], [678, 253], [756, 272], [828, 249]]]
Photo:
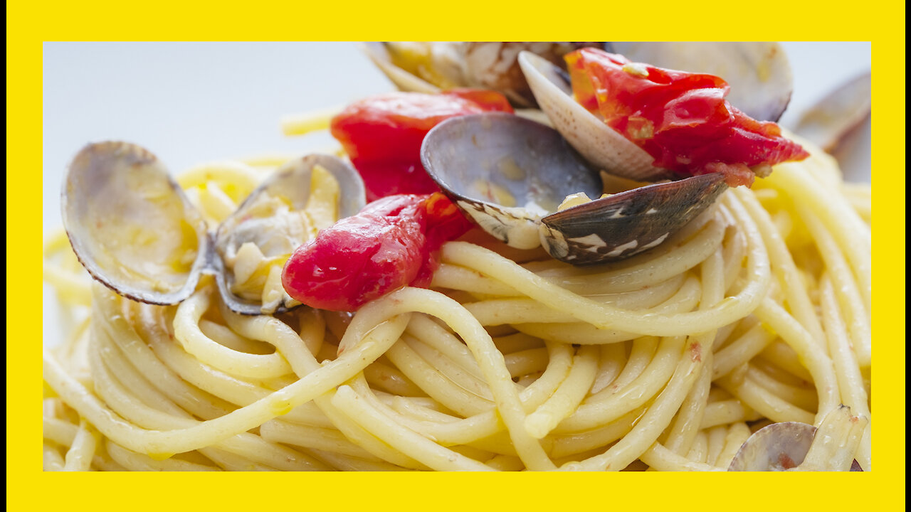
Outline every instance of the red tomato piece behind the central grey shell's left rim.
[[489, 111], [512, 108], [503, 95], [481, 89], [435, 95], [399, 92], [349, 105], [333, 118], [331, 130], [361, 173], [367, 200], [374, 201], [439, 190], [421, 165], [424, 136], [445, 119]]

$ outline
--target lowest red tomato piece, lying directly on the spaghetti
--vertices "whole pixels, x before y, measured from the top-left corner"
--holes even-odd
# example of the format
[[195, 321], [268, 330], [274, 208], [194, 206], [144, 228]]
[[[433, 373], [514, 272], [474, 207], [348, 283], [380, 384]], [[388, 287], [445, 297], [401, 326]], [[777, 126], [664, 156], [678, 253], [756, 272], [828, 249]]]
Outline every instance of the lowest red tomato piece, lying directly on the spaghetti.
[[436, 251], [470, 226], [442, 193], [389, 196], [299, 247], [281, 282], [308, 306], [356, 311], [403, 286], [429, 285]]

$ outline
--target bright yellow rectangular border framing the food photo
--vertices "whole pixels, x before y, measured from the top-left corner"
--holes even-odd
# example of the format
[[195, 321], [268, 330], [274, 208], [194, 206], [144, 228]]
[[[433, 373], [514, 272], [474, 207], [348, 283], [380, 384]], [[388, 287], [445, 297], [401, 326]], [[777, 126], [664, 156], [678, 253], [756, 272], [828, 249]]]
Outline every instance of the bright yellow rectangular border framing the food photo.
[[[6, 4], [10, 509], [904, 508], [905, 5], [888, 2]], [[366, 3], [363, 3], [366, 4]], [[535, 27], [534, 32], [530, 32]], [[864, 475], [62, 475], [40, 467], [42, 41], [777, 39], [873, 42], [875, 471]], [[723, 478], [723, 480], [722, 480]], [[330, 508], [331, 507], [331, 508]]]

